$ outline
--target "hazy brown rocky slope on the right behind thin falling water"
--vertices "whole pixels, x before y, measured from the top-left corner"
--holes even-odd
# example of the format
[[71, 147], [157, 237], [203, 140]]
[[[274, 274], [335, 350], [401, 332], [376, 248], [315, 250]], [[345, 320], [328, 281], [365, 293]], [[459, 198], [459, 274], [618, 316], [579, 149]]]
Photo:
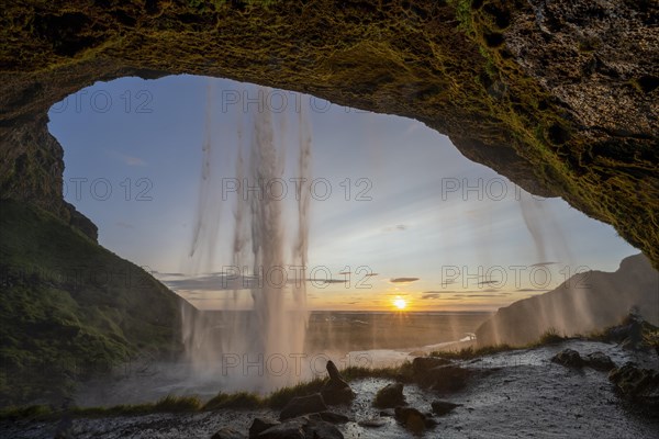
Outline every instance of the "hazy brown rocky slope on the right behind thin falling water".
[[619, 324], [632, 307], [659, 324], [659, 272], [643, 255], [625, 258], [616, 272], [577, 274], [554, 291], [500, 308], [476, 336], [480, 346], [524, 346], [550, 329], [585, 335]]

